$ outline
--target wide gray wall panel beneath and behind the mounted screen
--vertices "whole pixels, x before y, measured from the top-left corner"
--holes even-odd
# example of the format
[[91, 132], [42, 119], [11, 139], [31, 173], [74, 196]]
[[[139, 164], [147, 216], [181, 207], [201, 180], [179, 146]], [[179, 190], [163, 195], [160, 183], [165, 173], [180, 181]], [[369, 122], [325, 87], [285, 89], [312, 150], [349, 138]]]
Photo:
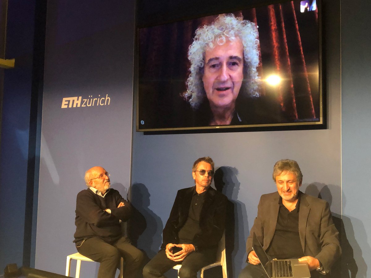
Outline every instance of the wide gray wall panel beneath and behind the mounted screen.
[[[245, 266], [245, 242], [257, 214], [260, 195], [276, 190], [274, 163], [282, 158], [298, 161], [303, 172], [302, 191], [321, 196], [341, 215], [341, 88], [340, 6], [332, 3], [326, 14], [327, 87], [329, 128], [275, 132], [238, 132], [185, 135], [143, 135], [134, 132], [132, 189], [150, 196], [141, 208], [151, 231], [138, 245], [155, 254], [161, 232], [180, 188], [193, 185], [191, 167], [197, 158], [211, 156], [223, 172], [223, 193], [234, 205], [233, 277]], [[133, 199], [133, 202], [137, 202]], [[138, 205], [142, 205], [141, 200]], [[340, 220], [339, 220], [340, 221]], [[148, 239], [148, 235], [152, 238]], [[174, 273], [170, 274], [176, 277]]]

